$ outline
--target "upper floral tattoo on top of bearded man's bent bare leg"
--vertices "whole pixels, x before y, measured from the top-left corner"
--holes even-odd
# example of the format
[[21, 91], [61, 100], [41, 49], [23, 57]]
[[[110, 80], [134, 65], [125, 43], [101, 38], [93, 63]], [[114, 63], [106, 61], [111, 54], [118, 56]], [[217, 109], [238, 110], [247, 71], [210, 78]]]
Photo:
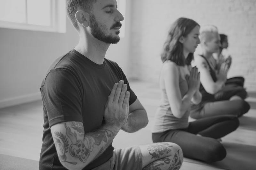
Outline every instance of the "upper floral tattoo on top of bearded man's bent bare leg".
[[148, 152], [152, 156], [151, 159], [160, 158], [160, 155], [163, 155], [164, 153], [171, 152], [170, 145], [164, 145], [164, 144], [156, 144], [156, 145], [149, 145], [148, 146]]

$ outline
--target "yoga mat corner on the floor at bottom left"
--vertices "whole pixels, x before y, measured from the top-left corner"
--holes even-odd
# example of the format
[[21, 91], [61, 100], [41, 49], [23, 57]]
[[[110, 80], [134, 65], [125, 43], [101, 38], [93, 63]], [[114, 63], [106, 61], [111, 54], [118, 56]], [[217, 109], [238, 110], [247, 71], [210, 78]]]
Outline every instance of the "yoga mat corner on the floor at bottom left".
[[1, 170], [38, 170], [39, 161], [0, 154]]

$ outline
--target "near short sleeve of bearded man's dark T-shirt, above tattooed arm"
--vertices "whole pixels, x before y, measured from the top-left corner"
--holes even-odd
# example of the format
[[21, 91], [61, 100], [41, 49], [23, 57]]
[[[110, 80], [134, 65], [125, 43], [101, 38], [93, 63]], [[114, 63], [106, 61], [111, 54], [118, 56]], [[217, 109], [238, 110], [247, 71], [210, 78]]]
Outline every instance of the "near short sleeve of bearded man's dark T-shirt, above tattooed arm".
[[41, 93], [50, 127], [67, 121], [83, 122], [82, 88], [71, 70], [51, 70], [44, 80]]

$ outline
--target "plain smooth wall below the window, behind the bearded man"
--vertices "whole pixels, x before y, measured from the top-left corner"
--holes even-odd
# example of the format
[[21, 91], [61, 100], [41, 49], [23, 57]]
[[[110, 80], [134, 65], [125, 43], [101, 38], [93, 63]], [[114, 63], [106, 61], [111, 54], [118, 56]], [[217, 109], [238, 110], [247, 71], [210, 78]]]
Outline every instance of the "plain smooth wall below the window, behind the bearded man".
[[[127, 1], [125, 37], [106, 54], [124, 73], [128, 68], [130, 4]], [[69, 20], [65, 34], [0, 28], [0, 108], [41, 99], [39, 88], [48, 67], [78, 40]]]

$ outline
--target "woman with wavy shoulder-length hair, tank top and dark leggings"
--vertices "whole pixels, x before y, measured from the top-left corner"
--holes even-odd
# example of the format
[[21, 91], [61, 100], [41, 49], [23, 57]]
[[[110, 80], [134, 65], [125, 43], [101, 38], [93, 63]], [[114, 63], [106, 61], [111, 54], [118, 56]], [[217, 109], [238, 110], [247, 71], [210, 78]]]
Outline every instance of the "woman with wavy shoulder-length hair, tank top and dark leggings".
[[220, 115], [188, 122], [191, 102], [198, 104], [202, 98], [201, 73], [190, 65], [200, 43], [199, 28], [192, 19], [178, 18], [168, 32], [161, 54], [161, 104], [156, 111], [152, 140], [178, 144], [184, 157], [216, 162], [227, 154], [217, 139], [235, 131], [239, 121], [233, 115]]

